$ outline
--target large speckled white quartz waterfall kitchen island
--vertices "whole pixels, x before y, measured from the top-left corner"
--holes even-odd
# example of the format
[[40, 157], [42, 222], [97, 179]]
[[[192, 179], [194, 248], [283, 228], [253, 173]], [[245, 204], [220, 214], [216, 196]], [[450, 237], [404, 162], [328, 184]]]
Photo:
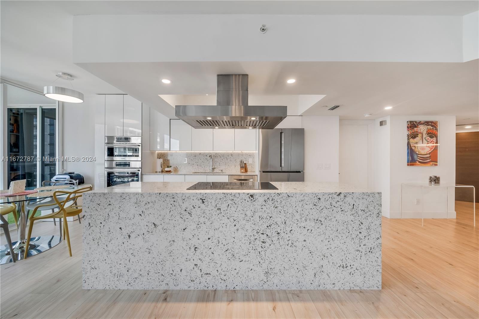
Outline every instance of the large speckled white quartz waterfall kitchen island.
[[83, 197], [84, 289], [381, 289], [381, 194], [329, 182]]

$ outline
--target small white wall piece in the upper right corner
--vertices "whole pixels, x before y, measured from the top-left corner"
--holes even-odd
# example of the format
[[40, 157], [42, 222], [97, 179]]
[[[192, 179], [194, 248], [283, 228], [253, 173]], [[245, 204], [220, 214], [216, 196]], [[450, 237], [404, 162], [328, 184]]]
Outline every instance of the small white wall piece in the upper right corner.
[[479, 11], [462, 17], [462, 46], [464, 62], [479, 58]]

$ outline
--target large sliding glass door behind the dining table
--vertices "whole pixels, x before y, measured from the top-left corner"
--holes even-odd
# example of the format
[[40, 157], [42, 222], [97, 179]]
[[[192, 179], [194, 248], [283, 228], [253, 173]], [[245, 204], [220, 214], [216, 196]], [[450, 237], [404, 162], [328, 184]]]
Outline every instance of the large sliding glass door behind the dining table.
[[6, 118], [1, 121], [2, 136], [6, 137], [3, 150], [7, 153], [2, 153], [4, 159], [7, 155], [2, 183], [4, 188], [18, 180], [26, 180], [27, 187], [41, 186], [59, 170], [58, 103], [34, 91], [2, 85], [7, 98], [2, 113]]

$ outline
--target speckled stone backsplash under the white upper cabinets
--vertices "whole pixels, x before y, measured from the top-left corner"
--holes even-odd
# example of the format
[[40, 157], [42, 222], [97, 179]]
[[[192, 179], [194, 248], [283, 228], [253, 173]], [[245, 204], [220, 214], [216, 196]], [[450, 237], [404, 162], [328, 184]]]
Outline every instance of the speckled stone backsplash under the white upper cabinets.
[[[248, 164], [248, 171], [256, 171], [256, 152], [157, 152], [157, 158], [163, 159], [163, 165], [171, 165], [173, 168], [176, 166], [179, 173], [209, 171], [209, 155], [213, 156], [215, 171], [239, 173], [241, 159]], [[185, 158], [186, 163], [184, 162]], [[249, 159], [251, 159], [251, 163]]]

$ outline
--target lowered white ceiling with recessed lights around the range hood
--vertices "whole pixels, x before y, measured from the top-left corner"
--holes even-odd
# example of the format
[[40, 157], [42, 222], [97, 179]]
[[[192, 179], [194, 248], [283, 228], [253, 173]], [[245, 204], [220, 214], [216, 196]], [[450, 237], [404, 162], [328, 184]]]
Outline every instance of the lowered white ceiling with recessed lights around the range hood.
[[[367, 119], [407, 114], [456, 115], [457, 124], [479, 122], [479, 60], [465, 63], [151, 62], [80, 65], [149, 105], [160, 103], [158, 94], [214, 95], [217, 74], [249, 74], [249, 93], [252, 95], [326, 95], [303, 115], [340, 115], [341, 119], [365, 119], [367, 113], [372, 114]], [[161, 83], [163, 78], [170, 79], [171, 84]], [[291, 78], [297, 81], [287, 84], [286, 80]], [[324, 105], [341, 107], [328, 111]], [[384, 110], [387, 105], [393, 109]], [[165, 114], [172, 116], [172, 108]]]

